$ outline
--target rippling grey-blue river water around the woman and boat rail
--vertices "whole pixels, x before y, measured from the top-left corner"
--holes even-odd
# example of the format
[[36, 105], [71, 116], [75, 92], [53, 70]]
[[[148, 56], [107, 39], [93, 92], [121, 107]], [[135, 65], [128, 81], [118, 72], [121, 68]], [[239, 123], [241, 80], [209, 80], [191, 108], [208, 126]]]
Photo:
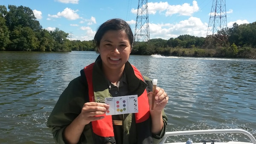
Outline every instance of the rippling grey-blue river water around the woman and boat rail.
[[[0, 143], [54, 143], [46, 127], [59, 95], [95, 52], [0, 52]], [[131, 55], [169, 95], [167, 131], [238, 128], [256, 137], [256, 60]], [[233, 137], [234, 136], [234, 137]], [[243, 134], [183, 135], [245, 141]]]

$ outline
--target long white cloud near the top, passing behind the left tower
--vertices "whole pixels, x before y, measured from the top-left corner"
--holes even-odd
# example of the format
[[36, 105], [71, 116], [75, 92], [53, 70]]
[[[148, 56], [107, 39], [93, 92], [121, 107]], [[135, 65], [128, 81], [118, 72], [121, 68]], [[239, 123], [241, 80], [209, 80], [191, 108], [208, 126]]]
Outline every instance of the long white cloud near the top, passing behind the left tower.
[[[161, 14], [165, 12], [166, 17], [172, 14], [191, 16], [198, 11], [198, 3], [195, 0], [192, 2], [192, 6], [189, 3], [184, 3], [183, 5], [169, 5], [168, 2], [148, 3], [148, 14], [156, 14], [157, 12]], [[137, 9], [131, 9], [131, 12], [137, 14]]]

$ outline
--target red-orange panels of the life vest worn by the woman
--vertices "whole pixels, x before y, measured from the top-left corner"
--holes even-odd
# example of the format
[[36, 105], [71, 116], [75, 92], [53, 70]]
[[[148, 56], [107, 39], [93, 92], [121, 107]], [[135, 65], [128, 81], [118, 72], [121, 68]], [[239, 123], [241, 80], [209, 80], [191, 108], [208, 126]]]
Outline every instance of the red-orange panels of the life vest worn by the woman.
[[[89, 94], [89, 101], [93, 102], [94, 100], [94, 91], [93, 91], [93, 65], [94, 63], [90, 64], [89, 66], [84, 67], [84, 73], [86, 75], [87, 84], [88, 84], [88, 94]], [[134, 69], [134, 74], [137, 76], [137, 78], [140, 78], [140, 80], [143, 80], [143, 76], [139, 72], [139, 70], [131, 65]], [[149, 116], [149, 104], [148, 104], [148, 96], [146, 89], [144, 90], [142, 95], [138, 95], [138, 113], [135, 113], [135, 119], [136, 123], [141, 123], [143, 121], [146, 121]], [[102, 137], [114, 137], [113, 132], [113, 123], [112, 123], [112, 116], [111, 115], [105, 115], [105, 118], [98, 120], [98, 121], [92, 121], [92, 127], [93, 132], [96, 135], [102, 136]]]

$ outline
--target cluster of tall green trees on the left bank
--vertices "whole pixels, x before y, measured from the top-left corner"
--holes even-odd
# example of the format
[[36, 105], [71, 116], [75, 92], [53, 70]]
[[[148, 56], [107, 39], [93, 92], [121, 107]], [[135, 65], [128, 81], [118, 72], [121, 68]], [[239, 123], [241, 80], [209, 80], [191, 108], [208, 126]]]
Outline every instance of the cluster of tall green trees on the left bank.
[[0, 6], [0, 50], [71, 51], [67, 33], [42, 29], [31, 9], [24, 6]]

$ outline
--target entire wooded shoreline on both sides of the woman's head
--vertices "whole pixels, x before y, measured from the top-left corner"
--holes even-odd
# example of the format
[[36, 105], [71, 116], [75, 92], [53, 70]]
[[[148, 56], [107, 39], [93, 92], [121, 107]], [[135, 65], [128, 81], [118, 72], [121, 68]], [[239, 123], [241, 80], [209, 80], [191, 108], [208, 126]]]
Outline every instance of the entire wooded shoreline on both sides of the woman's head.
[[[69, 40], [56, 28], [42, 29], [33, 11], [26, 6], [0, 6], [0, 50], [70, 52], [95, 51], [93, 40]], [[256, 22], [222, 29], [207, 37], [180, 35], [163, 40], [134, 42], [132, 55], [170, 55], [226, 58], [256, 58]]]

